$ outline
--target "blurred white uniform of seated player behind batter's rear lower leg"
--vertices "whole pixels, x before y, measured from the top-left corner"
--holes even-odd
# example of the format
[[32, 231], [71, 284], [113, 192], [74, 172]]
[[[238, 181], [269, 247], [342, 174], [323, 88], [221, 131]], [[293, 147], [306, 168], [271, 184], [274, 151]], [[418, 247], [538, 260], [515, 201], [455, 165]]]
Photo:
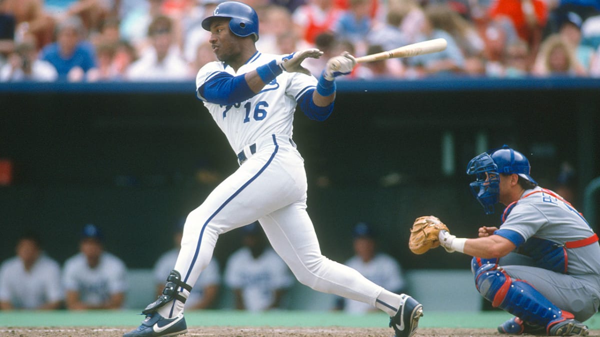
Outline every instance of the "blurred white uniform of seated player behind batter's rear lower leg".
[[[381, 285], [383, 288], [391, 291], [399, 291], [404, 288], [402, 267], [388, 254], [377, 253], [367, 262], [363, 261], [358, 255], [354, 255], [345, 264], [358, 270], [367, 279]], [[373, 309], [376, 309], [376, 307], [367, 303], [344, 299], [344, 311], [350, 314], [364, 314]]]

